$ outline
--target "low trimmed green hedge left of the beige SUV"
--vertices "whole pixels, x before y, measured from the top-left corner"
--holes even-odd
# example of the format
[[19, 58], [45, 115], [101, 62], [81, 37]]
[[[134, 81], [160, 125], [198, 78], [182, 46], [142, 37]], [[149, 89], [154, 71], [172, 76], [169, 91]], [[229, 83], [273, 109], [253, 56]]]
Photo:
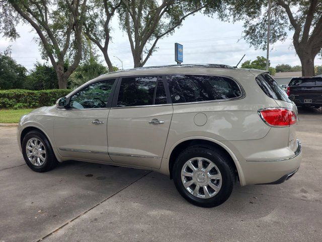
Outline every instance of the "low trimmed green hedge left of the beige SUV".
[[66, 96], [72, 90], [51, 89], [31, 91], [24, 89], [0, 90], [0, 108], [35, 108], [51, 106], [60, 97]]

